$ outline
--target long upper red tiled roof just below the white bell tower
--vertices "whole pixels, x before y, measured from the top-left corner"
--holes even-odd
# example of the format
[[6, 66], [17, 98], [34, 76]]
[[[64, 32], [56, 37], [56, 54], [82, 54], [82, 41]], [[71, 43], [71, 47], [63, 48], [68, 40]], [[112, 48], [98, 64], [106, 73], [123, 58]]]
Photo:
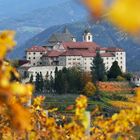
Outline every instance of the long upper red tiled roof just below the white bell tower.
[[97, 45], [94, 42], [63, 42], [63, 47], [65, 49], [89, 49], [89, 50], [95, 50], [97, 48], [100, 48], [99, 45]]

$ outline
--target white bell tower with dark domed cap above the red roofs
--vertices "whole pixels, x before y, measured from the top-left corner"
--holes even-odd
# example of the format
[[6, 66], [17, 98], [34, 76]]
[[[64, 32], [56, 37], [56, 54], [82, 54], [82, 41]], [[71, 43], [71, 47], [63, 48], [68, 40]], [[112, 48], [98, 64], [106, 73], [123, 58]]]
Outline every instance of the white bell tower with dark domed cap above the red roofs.
[[89, 29], [86, 29], [83, 34], [83, 42], [92, 42], [93, 41], [93, 35], [89, 31]]

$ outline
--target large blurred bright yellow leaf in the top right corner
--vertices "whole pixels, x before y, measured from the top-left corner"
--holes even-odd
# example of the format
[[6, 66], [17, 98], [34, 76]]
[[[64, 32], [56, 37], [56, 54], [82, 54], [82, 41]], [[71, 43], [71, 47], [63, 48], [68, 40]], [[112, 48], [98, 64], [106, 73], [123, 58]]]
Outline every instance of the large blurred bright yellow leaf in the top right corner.
[[130, 33], [140, 33], [140, 1], [116, 0], [109, 9], [109, 20]]

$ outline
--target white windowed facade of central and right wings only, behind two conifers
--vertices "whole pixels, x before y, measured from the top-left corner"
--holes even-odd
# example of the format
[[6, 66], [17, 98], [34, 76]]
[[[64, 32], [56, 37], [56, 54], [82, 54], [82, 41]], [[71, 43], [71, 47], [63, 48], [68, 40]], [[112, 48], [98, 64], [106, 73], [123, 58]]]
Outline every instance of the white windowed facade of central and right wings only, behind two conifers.
[[[113, 57], [102, 57], [106, 71], [111, 68], [114, 61], [117, 61], [122, 72], [126, 72], [126, 60], [124, 58], [125, 52], [122, 52], [122, 54], [118, 52], [118, 54], [120, 55]], [[59, 58], [59, 66], [64, 66], [66, 68], [78, 66], [85, 71], [91, 71], [91, 64], [93, 59], [93, 57], [63, 56]]]

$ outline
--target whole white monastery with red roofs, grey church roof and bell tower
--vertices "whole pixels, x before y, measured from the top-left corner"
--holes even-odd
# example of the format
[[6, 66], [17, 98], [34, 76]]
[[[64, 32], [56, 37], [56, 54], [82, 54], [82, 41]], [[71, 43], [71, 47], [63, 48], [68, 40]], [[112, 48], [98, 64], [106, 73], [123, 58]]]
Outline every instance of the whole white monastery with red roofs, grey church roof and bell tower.
[[114, 61], [122, 72], [126, 72], [126, 53], [122, 48], [101, 47], [93, 42], [93, 35], [89, 30], [83, 33], [83, 41], [77, 42], [67, 28], [62, 33], [54, 33], [45, 46], [33, 46], [26, 50], [26, 60], [29, 61], [29, 75], [35, 77], [37, 72], [42, 72], [45, 77], [54, 76], [55, 68], [69, 68], [78, 66], [84, 71], [90, 67], [97, 52], [100, 53], [106, 70], [109, 70]]

